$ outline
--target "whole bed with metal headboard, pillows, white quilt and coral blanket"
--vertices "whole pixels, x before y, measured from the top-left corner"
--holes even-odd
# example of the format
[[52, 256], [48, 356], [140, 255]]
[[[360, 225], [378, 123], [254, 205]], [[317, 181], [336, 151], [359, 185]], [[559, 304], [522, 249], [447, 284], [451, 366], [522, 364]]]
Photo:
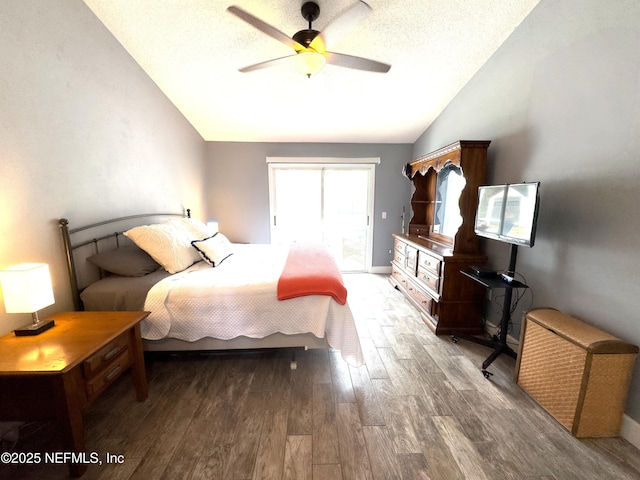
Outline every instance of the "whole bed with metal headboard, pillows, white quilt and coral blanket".
[[346, 288], [317, 245], [231, 243], [189, 210], [59, 223], [76, 310], [149, 311], [147, 351], [333, 348], [362, 364]]

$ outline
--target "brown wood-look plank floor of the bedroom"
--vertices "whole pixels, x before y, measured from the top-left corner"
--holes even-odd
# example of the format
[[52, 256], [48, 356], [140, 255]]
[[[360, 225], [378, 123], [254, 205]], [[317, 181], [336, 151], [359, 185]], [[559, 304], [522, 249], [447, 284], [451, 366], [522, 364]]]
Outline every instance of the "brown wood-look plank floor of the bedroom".
[[[286, 351], [148, 359], [146, 402], [125, 376], [85, 417], [88, 449], [124, 462], [83, 478], [640, 478], [637, 449], [573, 438], [514, 384], [512, 359], [487, 380], [489, 352], [431, 334], [385, 276], [345, 281], [366, 365], [334, 351], [297, 352], [297, 370]], [[31, 428], [14, 448], [59, 448], [53, 426]], [[60, 465], [4, 468], [67, 478]]]

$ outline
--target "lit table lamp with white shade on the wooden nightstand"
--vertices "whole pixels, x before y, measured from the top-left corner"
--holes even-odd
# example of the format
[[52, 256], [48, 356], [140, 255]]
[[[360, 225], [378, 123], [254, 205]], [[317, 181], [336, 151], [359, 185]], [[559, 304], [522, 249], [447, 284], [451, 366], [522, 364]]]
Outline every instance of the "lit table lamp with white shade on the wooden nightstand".
[[33, 323], [14, 331], [17, 336], [39, 335], [54, 326], [40, 320], [38, 310], [53, 305], [51, 275], [46, 263], [21, 263], [0, 271], [0, 284], [7, 313], [30, 313]]

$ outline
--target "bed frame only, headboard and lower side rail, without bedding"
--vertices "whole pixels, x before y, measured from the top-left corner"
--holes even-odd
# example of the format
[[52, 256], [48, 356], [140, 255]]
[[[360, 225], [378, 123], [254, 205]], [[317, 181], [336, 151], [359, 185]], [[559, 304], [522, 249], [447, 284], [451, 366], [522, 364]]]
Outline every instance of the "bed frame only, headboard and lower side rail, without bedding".
[[[87, 258], [101, 251], [109, 251], [130, 245], [131, 241], [123, 235], [124, 231], [139, 225], [157, 223], [167, 217], [190, 218], [191, 211], [186, 209], [181, 213], [130, 215], [77, 228], [69, 228], [69, 221], [65, 218], [59, 220], [75, 310], [84, 310], [82, 299], [80, 298], [82, 290], [104, 276], [104, 272], [88, 262]], [[144, 349], [150, 352], [330, 348], [326, 338], [318, 338], [311, 333], [298, 335], [276, 333], [265, 338], [237, 337], [231, 340], [203, 338], [195, 342], [187, 342], [175, 338], [143, 339], [143, 344]], [[292, 362], [292, 368], [295, 368], [294, 362]]]

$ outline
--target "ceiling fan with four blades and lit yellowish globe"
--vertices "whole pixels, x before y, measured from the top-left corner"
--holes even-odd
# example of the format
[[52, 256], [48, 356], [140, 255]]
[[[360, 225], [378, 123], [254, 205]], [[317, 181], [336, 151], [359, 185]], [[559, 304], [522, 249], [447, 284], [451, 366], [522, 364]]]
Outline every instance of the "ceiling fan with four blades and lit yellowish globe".
[[316, 2], [305, 2], [302, 5], [301, 12], [302, 17], [309, 22], [309, 28], [300, 30], [294, 34], [293, 37], [289, 37], [287, 34], [240, 7], [231, 6], [227, 8], [227, 10], [261, 32], [266, 33], [296, 51], [293, 55], [287, 55], [286, 57], [275, 58], [241, 68], [239, 69], [241, 72], [251, 72], [253, 70], [273, 67], [292, 61], [298, 64], [298, 67], [307, 77], [311, 77], [311, 75], [315, 75], [322, 70], [325, 63], [339, 67], [380, 73], [386, 73], [391, 68], [391, 65], [375, 60], [330, 52], [326, 49], [327, 45], [337, 43], [356, 23], [371, 11], [371, 7], [363, 1], [358, 1], [342, 11], [322, 32], [313, 30], [311, 27], [311, 23], [320, 15], [320, 7]]

